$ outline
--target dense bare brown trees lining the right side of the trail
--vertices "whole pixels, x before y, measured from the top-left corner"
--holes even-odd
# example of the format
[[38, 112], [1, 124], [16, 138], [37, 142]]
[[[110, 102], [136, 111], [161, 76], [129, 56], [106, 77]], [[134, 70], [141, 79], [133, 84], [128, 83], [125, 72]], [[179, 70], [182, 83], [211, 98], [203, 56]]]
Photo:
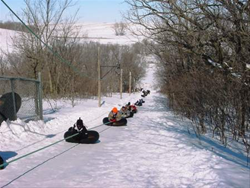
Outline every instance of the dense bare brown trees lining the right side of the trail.
[[211, 130], [250, 142], [250, 2], [127, 0], [126, 16], [144, 28], [159, 61], [169, 106]]

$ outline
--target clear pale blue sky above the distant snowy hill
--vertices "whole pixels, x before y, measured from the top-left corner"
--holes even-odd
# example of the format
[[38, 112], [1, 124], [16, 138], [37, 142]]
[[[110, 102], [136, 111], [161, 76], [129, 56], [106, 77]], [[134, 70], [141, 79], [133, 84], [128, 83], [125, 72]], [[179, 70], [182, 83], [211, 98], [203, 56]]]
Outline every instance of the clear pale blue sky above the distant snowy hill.
[[[23, 0], [3, 0], [17, 13], [24, 8]], [[122, 20], [121, 12], [128, 9], [124, 0], [76, 0], [77, 5], [71, 8], [70, 12], [76, 11], [79, 7], [78, 17], [83, 22], [118, 22]], [[10, 11], [0, 1], [0, 20], [10, 20]]]

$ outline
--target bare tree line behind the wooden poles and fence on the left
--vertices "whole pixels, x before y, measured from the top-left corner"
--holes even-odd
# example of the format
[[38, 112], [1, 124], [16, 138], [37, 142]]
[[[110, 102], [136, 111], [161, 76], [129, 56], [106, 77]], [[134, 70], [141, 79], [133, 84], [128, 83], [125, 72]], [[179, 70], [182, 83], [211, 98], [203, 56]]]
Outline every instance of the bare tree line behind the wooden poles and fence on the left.
[[99, 48], [104, 95], [119, 91], [120, 70], [117, 68], [123, 69], [124, 91], [129, 87], [129, 72], [133, 77], [132, 88], [143, 77], [143, 45], [84, 42], [84, 34], [80, 33], [76, 24], [76, 15], [64, 16], [74, 1], [24, 2], [27, 8], [24, 9], [22, 20], [32, 26], [34, 33], [26, 30], [12, 39], [13, 51], [0, 59], [1, 75], [37, 79], [41, 72], [45, 96], [93, 97], [97, 95]]

